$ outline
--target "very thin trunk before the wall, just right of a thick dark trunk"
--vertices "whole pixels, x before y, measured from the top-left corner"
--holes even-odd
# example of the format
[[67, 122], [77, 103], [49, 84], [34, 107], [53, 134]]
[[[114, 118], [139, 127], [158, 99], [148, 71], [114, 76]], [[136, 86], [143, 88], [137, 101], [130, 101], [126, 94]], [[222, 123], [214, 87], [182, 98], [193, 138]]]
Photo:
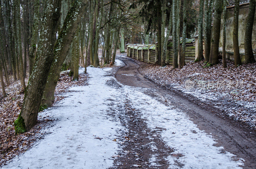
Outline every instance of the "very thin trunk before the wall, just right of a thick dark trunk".
[[227, 67], [227, 63], [226, 63], [226, 12], [227, 12], [227, 5], [226, 2], [225, 3], [225, 7], [223, 8], [223, 25], [222, 25], [222, 30], [223, 30], [223, 44], [222, 44], [222, 67], [225, 68]]

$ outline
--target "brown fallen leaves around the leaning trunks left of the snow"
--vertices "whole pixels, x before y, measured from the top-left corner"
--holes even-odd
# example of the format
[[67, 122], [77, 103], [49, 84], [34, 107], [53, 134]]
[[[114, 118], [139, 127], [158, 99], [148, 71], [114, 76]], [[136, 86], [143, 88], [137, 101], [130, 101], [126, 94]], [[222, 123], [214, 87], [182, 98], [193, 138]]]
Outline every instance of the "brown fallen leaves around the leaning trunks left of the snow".
[[[78, 81], [72, 81], [73, 77], [68, 76], [68, 72], [61, 72], [60, 79], [55, 90], [55, 102], [65, 98], [58, 94], [65, 92], [68, 87], [76, 85], [87, 85], [88, 75], [80, 74]], [[26, 84], [28, 78], [26, 78]], [[37, 121], [37, 125], [30, 131], [23, 134], [15, 134], [14, 121], [18, 118], [22, 107], [24, 92], [20, 87], [20, 81], [12, 82], [6, 87], [7, 97], [0, 99], [0, 166], [17, 154], [27, 151], [29, 147], [39, 138], [43, 138], [45, 133], [40, 133], [40, 129], [53, 121], [49, 116]], [[40, 115], [40, 113], [39, 113]]]

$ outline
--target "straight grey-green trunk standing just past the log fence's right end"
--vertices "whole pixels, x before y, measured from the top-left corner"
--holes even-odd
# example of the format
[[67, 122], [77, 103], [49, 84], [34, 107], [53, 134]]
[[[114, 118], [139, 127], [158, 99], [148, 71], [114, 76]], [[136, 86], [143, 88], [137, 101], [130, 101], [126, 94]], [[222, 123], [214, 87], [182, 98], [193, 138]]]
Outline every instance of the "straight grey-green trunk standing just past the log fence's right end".
[[198, 18], [198, 47], [197, 47], [197, 53], [198, 53], [197, 59], [199, 61], [204, 59], [204, 55], [203, 55], [203, 11], [204, 11], [204, 0], [200, 0], [199, 18]]

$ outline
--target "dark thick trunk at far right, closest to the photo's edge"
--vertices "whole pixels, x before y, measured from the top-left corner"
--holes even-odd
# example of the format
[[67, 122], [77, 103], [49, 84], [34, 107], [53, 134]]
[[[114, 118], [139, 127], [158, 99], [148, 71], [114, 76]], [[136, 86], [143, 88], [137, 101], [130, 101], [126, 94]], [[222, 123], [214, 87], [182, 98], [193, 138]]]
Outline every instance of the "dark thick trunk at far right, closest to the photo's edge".
[[244, 57], [245, 63], [255, 62], [252, 52], [252, 28], [255, 13], [255, 0], [250, 0], [249, 12], [245, 23], [245, 36], [244, 36]]

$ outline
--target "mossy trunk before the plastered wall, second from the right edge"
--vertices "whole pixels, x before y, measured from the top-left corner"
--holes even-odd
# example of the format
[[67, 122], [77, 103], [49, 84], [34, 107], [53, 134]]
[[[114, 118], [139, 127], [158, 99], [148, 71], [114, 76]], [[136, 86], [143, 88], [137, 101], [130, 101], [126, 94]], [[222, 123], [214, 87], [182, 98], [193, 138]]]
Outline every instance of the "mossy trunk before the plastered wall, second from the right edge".
[[241, 59], [239, 54], [239, 44], [238, 44], [238, 15], [239, 15], [239, 0], [235, 0], [234, 7], [234, 21], [233, 21], [233, 50], [234, 50], [234, 61], [235, 66], [241, 65]]

